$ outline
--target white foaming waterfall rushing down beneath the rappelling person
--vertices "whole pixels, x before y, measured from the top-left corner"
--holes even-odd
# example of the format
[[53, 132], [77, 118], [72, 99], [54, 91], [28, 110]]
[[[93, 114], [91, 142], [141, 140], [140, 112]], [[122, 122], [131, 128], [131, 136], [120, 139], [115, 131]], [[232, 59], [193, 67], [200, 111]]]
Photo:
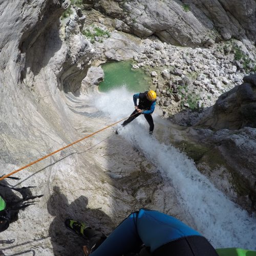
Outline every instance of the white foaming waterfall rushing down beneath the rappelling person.
[[[113, 121], [134, 111], [133, 97], [118, 89], [94, 97], [95, 106]], [[154, 117], [154, 116], [153, 116]], [[157, 125], [155, 123], [155, 125]], [[195, 163], [172, 145], [159, 143], [148, 136], [148, 124], [139, 116], [120, 131], [169, 177], [180, 205], [194, 218], [196, 228], [215, 248], [256, 249], [256, 218], [231, 202], [196, 168]]]

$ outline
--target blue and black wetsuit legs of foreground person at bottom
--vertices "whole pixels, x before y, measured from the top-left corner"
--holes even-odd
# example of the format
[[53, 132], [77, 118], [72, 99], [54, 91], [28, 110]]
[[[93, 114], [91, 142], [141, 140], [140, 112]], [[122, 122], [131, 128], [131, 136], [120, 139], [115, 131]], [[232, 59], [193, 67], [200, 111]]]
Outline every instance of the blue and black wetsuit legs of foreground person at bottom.
[[[142, 245], [144, 249], [138, 252]], [[138, 254], [130, 254], [136, 251]], [[133, 212], [108, 238], [101, 237], [90, 256], [102, 255], [218, 256], [196, 230], [174, 217], [146, 209]]]

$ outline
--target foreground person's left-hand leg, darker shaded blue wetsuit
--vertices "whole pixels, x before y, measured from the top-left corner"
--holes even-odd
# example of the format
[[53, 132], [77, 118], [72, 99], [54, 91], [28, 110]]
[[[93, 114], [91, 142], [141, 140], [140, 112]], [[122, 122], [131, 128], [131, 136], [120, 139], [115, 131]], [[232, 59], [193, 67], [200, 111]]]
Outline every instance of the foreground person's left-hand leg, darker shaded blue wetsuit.
[[137, 216], [127, 217], [90, 256], [120, 256], [139, 248], [143, 243], [137, 233]]

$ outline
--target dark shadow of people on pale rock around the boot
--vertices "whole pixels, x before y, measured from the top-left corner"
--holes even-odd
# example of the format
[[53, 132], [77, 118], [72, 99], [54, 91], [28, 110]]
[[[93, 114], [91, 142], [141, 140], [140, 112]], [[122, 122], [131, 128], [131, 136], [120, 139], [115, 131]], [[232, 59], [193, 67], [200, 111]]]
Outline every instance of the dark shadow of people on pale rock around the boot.
[[49, 198], [47, 208], [52, 216], [55, 216], [49, 228], [49, 235], [56, 256], [82, 256], [82, 246], [87, 245], [87, 241], [68, 230], [65, 220], [72, 218], [86, 222], [88, 226], [105, 233], [111, 232], [105, 227], [113, 227], [111, 219], [100, 209], [87, 208], [88, 199], [80, 196], [71, 204], [65, 195], [61, 194], [59, 187], [53, 188], [53, 195]]

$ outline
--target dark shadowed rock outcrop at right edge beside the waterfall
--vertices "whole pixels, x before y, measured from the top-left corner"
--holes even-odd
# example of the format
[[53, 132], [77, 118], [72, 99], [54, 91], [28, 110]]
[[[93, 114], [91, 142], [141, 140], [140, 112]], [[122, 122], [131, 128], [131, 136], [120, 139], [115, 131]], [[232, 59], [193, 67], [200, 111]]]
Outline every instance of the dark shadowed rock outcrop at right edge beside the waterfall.
[[216, 131], [206, 136], [204, 143], [214, 146], [200, 161], [210, 163], [212, 158], [215, 164], [225, 163], [231, 170], [233, 187], [241, 196], [239, 203], [255, 210], [256, 75], [246, 76], [243, 81], [222, 94], [194, 126]]

